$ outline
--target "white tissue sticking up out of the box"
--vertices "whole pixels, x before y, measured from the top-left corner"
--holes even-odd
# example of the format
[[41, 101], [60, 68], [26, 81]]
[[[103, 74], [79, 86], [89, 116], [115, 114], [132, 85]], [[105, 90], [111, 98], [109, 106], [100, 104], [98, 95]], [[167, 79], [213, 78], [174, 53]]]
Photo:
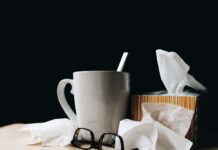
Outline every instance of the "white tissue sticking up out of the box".
[[168, 94], [183, 93], [185, 86], [199, 91], [206, 90], [205, 86], [188, 73], [189, 65], [176, 52], [158, 49], [156, 55], [160, 77]]

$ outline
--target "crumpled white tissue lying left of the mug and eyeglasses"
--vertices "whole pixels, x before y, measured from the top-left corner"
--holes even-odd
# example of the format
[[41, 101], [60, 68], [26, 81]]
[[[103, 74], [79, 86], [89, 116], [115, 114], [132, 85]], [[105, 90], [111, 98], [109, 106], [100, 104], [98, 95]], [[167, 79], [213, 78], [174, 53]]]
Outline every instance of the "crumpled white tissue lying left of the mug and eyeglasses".
[[77, 123], [69, 119], [54, 119], [45, 123], [27, 124], [19, 131], [29, 131], [32, 142], [42, 146], [66, 146], [71, 143]]

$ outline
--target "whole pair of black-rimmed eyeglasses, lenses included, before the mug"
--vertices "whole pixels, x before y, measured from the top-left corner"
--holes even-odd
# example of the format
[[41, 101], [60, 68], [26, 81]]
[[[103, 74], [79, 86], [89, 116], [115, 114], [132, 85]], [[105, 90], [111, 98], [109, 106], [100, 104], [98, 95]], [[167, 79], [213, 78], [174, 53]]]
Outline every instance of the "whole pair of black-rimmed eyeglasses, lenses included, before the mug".
[[[103, 133], [98, 142], [95, 142], [94, 133], [86, 128], [77, 128], [71, 144], [80, 149], [88, 150], [95, 148], [98, 150], [109, 150], [115, 148], [116, 145], [120, 150], [124, 150], [123, 139], [120, 135], [115, 133]], [[116, 147], [116, 148], [117, 148]]]

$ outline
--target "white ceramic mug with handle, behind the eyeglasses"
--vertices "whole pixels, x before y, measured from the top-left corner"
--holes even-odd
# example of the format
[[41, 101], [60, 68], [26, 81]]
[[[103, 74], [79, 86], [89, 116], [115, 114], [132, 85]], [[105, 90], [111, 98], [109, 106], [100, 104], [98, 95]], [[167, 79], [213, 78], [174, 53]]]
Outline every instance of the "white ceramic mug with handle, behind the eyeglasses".
[[[125, 116], [130, 90], [130, 75], [116, 71], [80, 71], [72, 79], [63, 79], [57, 87], [59, 102], [71, 120], [79, 127], [91, 129], [96, 141], [102, 133], [117, 133]], [[76, 114], [68, 105], [64, 89], [71, 84]]]

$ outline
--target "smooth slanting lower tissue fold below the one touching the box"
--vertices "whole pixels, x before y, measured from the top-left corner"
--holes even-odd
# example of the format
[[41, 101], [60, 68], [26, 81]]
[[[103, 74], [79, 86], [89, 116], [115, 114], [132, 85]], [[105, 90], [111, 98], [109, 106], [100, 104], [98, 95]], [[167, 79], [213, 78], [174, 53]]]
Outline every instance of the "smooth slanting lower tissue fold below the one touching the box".
[[156, 150], [190, 150], [191, 141], [153, 120], [145, 109], [143, 109], [142, 122], [152, 123], [156, 127], [158, 131]]

